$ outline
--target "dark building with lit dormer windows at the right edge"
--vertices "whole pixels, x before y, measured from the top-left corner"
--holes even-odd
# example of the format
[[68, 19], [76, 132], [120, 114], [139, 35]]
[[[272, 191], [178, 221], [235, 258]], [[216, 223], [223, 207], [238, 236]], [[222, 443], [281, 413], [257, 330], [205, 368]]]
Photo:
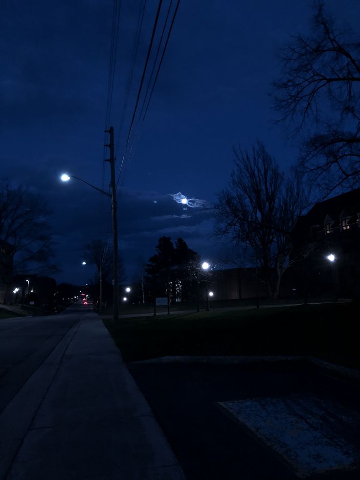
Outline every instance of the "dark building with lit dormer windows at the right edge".
[[310, 297], [359, 297], [360, 188], [318, 202], [299, 217], [293, 244], [293, 257], [304, 257], [293, 269], [299, 290]]

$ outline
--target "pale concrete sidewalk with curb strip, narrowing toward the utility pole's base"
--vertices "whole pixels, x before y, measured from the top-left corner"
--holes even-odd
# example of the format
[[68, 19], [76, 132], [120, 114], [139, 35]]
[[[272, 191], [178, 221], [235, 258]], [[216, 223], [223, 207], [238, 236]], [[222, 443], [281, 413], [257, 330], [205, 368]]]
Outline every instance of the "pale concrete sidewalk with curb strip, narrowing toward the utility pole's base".
[[82, 316], [0, 415], [0, 480], [185, 480], [102, 321]]

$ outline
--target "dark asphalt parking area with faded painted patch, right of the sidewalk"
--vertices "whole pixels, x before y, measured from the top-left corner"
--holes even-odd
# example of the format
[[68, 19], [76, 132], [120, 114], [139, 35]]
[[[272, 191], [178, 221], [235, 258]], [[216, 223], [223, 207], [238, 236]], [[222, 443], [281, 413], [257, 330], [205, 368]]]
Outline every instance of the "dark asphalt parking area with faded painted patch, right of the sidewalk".
[[305, 362], [128, 368], [188, 480], [360, 478], [359, 385]]

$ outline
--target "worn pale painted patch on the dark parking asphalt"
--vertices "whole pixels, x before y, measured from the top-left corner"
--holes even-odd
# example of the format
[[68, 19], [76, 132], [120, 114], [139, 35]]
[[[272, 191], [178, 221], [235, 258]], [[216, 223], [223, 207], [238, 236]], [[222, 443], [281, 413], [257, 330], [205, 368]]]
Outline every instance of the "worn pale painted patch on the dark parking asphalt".
[[287, 460], [299, 477], [355, 468], [360, 415], [313, 395], [219, 402]]

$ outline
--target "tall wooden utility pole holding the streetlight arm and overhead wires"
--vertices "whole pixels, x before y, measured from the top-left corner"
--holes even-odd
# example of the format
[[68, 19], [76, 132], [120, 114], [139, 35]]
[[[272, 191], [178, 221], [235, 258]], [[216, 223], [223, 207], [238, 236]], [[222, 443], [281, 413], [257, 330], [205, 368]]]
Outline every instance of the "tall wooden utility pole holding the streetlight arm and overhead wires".
[[118, 279], [118, 258], [117, 258], [117, 205], [116, 205], [116, 185], [115, 185], [115, 157], [114, 157], [114, 129], [105, 130], [110, 134], [110, 142], [105, 147], [110, 148], [110, 159], [105, 160], [110, 162], [111, 174], [111, 209], [112, 209], [112, 238], [113, 238], [113, 258], [112, 258], [112, 285], [113, 285], [113, 319], [119, 319], [119, 279]]

